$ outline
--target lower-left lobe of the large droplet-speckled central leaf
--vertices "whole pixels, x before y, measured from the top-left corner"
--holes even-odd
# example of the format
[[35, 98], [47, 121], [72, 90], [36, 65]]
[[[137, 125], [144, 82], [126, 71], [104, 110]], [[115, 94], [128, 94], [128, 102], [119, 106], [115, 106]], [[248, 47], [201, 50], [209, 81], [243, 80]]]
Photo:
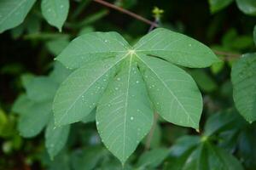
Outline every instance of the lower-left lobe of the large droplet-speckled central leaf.
[[55, 95], [55, 123], [79, 122], [89, 115], [101, 99], [119, 61], [111, 58], [89, 63], [67, 77]]

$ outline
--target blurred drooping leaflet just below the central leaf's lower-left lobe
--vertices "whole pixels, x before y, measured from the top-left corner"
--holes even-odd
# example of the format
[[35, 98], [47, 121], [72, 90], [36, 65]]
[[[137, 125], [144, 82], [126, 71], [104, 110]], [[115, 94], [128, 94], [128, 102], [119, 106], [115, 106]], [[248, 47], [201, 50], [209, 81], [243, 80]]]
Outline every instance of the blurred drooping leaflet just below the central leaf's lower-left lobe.
[[46, 127], [45, 132], [45, 145], [49, 156], [53, 159], [67, 142], [69, 133], [69, 125], [55, 127], [54, 119], [52, 118]]

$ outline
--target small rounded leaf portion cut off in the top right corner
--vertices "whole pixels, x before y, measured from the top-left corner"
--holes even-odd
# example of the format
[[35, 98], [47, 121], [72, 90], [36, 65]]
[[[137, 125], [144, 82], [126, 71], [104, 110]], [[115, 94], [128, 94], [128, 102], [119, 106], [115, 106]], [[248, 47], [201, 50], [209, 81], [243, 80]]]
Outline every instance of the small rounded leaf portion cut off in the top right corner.
[[244, 13], [256, 16], [256, 1], [254, 0], [236, 0], [238, 8]]

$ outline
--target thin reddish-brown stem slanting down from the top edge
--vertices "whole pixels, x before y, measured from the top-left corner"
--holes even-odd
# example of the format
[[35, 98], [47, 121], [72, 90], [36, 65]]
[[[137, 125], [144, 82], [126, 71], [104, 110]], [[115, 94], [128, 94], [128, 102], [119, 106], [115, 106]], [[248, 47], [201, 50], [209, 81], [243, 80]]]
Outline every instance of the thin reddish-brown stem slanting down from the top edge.
[[137, 20], [141, 20], [141, 21], [143, 21], [144, 23], [146, 23], [150, 26], [158, 27], [158, 25], [156, 23], [152, 22], [151, 20], [145, 19], [145, 18], [143, 18], [142, 16], [140, 16], [138, 14], [135, 14], [135, 13], [132, 13], [131, 11], [129, 11], [129, 10], [126, 10], [125, 8], [120, 8], [120, 7], [118, 7], [118, 6], [116, 6], [112, 3], [108, 3], [108, 2], [103, 1], [103, 0], [93, 0], [93, 1], [96, 2], [96, 3], [101, 3], [102, 5], [104, 5], [108, 8], [113, 8], [115, 10], [118, 10], [121, 13], [128, 14], [131, 17], [133, 17]]

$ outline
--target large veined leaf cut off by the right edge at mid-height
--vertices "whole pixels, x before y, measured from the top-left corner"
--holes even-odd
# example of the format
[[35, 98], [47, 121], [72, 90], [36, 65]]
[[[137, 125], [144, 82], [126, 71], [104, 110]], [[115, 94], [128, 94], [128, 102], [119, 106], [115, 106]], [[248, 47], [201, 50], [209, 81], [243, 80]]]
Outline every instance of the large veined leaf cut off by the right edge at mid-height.
[[248, 122], [256, 120], [256, 54], [244, 54], [231, 71], [237, 110]]

